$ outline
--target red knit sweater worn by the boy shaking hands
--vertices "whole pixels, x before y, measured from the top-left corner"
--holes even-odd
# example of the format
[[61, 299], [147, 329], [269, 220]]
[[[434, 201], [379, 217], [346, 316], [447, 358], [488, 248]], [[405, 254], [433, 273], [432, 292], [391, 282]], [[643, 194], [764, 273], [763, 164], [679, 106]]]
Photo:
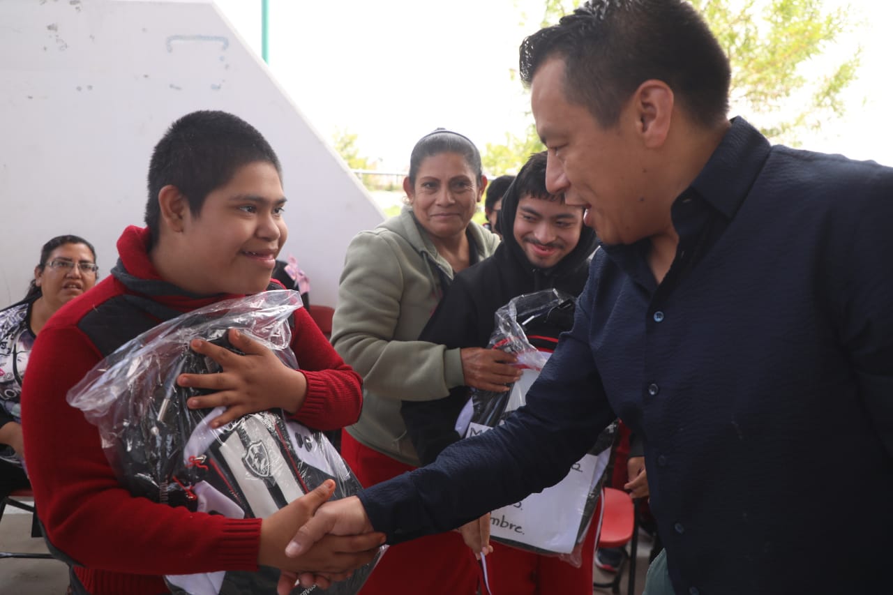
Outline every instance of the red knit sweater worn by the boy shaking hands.
[[[171, 288], [146, 254], [148, 235], [129, 227], [118, 241], [119, 267], [141, 285]], [[149, 295], [188, 312], [236, 296], [196, 299]], [[173, 292], [171, 292], [173, 293]], [[35, 501], [49, 540], [84, 567], [75, 567], [94, 595], [157, 595], [163, 574], [257, 568], [261, 521], [192, 513], [122, 490], [100, 445], [96, 426], [65, 396], [103, 356], [79, 330], [95, 306], [137, 294], [110, 276], [71, 300], [40, 331], [21, 393], [25, 452]], [[109, 321], [110, 325], [115, 321]], [[291, 348], [307, 378], [296, 419], [320, 430], [355, 423], [362, 406], [360, 377], [344, 363], [303, 308], [295, 313]]]

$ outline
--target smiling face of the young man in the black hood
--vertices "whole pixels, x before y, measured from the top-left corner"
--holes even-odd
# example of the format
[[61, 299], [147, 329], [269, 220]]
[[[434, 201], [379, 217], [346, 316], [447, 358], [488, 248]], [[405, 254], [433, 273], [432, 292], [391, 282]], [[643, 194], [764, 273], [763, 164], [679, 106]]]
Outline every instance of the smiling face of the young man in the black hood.
[[547, 269], [561, 262], [580, 241], [583, 209], [561, 200], [524, 195], [514, 216], [514, 239], [530, 264]]

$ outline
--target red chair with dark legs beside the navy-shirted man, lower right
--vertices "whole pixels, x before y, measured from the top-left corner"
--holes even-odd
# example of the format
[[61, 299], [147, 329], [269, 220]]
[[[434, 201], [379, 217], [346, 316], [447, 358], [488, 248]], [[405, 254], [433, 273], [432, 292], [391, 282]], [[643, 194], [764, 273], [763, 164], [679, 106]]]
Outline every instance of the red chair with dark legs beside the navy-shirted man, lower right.
[[612, 593], [620, 592], [620, 581], [623, 574], [623, 564], [630, 563], [630, 580], [628, 593], [635, 592], [636, 578], [636, 509], [630, 494], [614, 488], [602, 488], [601, 515], [598, 519], [598, 548], [623, 548], [630, 544], [630, 552], [623, 549], [623, 562], [614, 574], [611, 582], [593, 582], [593, 587], [610, 587]]

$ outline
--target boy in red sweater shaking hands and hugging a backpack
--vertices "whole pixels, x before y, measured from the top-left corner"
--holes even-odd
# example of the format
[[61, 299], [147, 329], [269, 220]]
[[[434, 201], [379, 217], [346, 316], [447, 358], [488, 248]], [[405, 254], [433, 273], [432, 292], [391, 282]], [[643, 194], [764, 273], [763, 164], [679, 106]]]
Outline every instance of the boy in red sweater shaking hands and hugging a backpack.
[[[321, 586], [369, 562], [382, 536], [334, 538], [305, 559], [285, 546], [330, 483], [266, 519], [230, 519], [135, 498], [108, 464], [96, 427], [65, 396], [104, 356], [174, 316], [267, 289], [288, 230], [280, 163], [252, 126], [230, 113], [190, 113], [171, 125], [149, 165], [145, 229], [118, 241], [112, 274], [59, 310], [40, 332], [21, 394], [26, 461], [47, 539], [71, 558], [74, 592], [157, 595], [164, 574], [310, 571]], [[235, 353], [196, 340], [222, 373], [183, 374], [211, 390], [193, 408], [227, 406], [216, 425], [281, 407], [319, 430], [354, 423], [361, 380], [309, 314], [294, 316], [291, 348], [301, 369], [230, 331]]]

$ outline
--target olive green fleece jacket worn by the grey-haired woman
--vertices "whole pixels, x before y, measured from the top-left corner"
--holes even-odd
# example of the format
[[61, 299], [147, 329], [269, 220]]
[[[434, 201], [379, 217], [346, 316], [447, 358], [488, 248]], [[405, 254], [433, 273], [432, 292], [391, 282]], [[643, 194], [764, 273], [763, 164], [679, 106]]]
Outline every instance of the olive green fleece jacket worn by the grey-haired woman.
[[[499, 243], [474, 222], [468, 236], [479, 259]], [[332, 319], [332, 345], [363, 376], [363, 413], [347, 432], [407, 465], [419, 459], [400, 401], [443, 398], [464, 384], [459, 349], [416, 340], [443, 295], [441, 274], [452, 279], [453, 269], [405, 208], [351, 240]]]

